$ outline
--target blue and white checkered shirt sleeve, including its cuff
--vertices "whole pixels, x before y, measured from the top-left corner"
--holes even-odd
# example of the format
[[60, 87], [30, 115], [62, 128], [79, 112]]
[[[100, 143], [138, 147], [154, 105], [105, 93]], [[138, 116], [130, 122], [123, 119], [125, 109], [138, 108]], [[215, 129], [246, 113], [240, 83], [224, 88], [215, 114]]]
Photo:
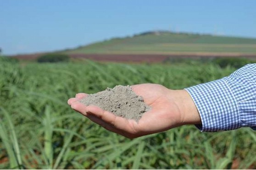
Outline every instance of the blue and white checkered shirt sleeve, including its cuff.
[[256, 64], [228, 77], [186, 88], [195, 102], [203, 132], [251, 127], [256, 130]]

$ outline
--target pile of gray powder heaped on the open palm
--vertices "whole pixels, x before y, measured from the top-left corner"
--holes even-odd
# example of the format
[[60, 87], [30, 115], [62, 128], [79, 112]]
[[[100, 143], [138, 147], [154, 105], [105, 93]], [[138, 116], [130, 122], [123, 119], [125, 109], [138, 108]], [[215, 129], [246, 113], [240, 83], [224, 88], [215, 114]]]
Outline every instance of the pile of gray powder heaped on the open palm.
[[136, 95], [130, 86], [123, 85], [88, 95], [80, 102], [86, 106], [98, 106], [116, 116], [134, 119], [136, 122], [139, 122], [143, 113], [150, 110], [141, 96]]

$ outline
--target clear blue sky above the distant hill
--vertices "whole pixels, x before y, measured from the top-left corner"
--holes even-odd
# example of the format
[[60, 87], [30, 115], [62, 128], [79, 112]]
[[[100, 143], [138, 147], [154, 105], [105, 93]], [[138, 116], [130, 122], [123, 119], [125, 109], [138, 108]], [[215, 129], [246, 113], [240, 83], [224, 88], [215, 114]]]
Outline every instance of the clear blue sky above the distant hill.
[[0, 0], [0, 48], [75, 48], [150, 30], [256, 38], [256, 0]]

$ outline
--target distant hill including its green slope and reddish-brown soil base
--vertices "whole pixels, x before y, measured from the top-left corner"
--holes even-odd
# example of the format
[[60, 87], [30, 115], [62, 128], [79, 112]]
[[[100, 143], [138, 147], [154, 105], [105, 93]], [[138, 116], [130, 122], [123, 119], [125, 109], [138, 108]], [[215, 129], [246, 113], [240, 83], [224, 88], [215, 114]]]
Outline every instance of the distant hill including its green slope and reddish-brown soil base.
[[[168, 31], [143, 32], [132, 37], [117, 37], [74, 49], [66, 53], [72, 58], [88, 58], [113, 62], [163, 62], [170, 58], [256, 58], [256, 38], [225, 37]], [[35, 60], [44, 53], [12, 56]]]

